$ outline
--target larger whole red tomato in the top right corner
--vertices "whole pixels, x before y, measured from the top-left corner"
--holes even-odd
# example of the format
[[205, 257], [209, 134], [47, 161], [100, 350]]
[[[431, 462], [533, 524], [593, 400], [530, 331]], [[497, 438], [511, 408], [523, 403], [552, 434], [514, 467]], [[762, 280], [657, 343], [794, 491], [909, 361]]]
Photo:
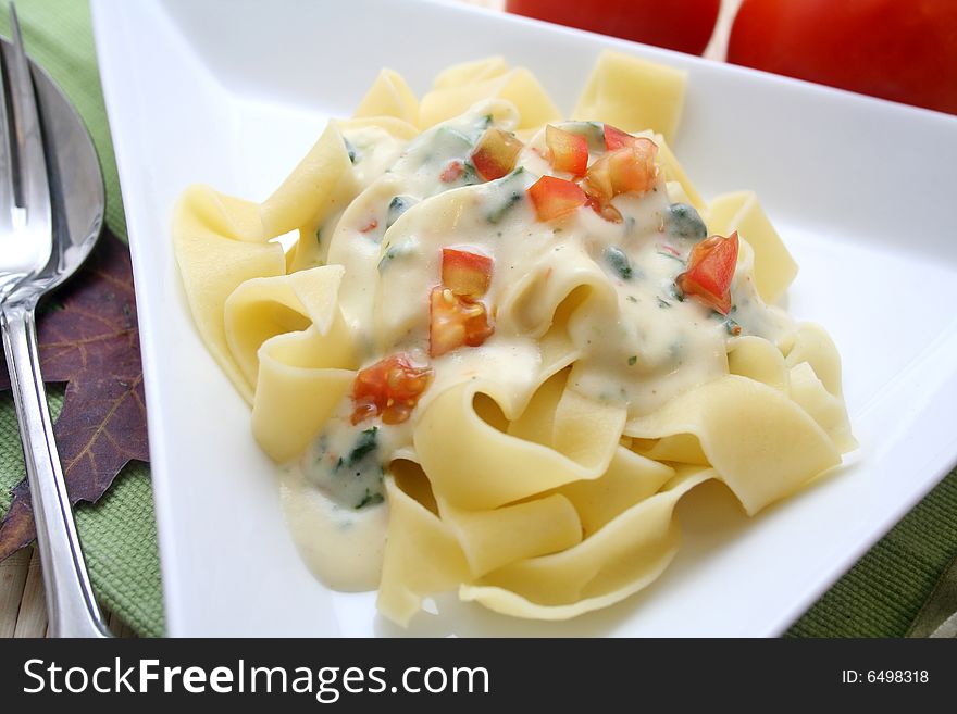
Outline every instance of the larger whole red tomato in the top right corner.
[[957, 114], [957, 2], [744, 0], [728, 61]]

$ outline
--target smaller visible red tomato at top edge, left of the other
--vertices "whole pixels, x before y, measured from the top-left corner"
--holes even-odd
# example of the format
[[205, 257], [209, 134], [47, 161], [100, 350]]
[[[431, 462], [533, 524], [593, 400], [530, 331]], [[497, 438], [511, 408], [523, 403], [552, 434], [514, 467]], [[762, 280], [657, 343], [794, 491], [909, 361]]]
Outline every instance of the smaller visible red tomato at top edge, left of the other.
[[670, 50], [705, 51], [721, 0], [508, 0], [506, 9], [526, 17], [613, 35]]

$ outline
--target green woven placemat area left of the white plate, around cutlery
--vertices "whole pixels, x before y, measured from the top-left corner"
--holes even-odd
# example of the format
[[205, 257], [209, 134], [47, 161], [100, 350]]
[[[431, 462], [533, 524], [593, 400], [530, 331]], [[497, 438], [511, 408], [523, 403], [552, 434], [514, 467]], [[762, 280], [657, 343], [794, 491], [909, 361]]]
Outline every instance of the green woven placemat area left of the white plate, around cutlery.
[[[9, 37], [8, 4], [4, 1], [0, 8], [0, 32]], [[20, 0], [16, 11], [28, 54], [70, 96], [92, 135], [107, 184], [107, 225], [125, 241], [126, 221], [89, 7], [86, 0]], [[49, 391], [55, 417], [63, 389]], [[0, 397], [0, 513], [10, 508], [10, 489], [23, 477], [13, 398], [5, 392]], [[128, 464], [99, 503], [76, 509], [76, 523], [100, 600], [140, 635], [162, 635], [163, 598], [149, 466]]]

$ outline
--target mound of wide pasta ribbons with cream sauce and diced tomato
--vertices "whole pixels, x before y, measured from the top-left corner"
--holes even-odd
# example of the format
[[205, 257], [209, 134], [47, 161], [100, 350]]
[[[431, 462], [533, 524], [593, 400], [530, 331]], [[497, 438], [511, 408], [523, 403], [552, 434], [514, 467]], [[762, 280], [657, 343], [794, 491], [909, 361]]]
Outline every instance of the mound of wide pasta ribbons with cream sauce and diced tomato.
[[573, 617], [662, 573], [698, 484], [754, 514], [855, 447], [756, 196], [669, 148], [684, 86], [607, 52], [566, 120], [500, 58], [384, 70], [262, 203], [184, 192], [194, 320], [331, 587]]

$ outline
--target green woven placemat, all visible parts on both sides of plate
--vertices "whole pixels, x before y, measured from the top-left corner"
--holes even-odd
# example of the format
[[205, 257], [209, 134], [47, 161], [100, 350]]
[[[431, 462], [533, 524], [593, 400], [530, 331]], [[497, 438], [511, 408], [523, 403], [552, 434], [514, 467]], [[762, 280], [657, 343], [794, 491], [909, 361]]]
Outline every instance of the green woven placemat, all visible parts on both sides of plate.
[[[8, 34], [4, 1], [0, 32]], [[100, 91], [86, 0], [18, 0], [29, 54], [63, 87], [87, 123], [107, 183], [107, 224], [125, 239], [120, 184]], [[51, 389], [54, 413], [62, 389]], [[902, 474], [902, 478], [906, 478]], [[0, 398], [0, 513], [23, 478], [13, 402]], [[848, 518], [855, 517], [848, 513]], [[149, 467], [127, 466], [96, 505], [80, 505], [77, 523], [99, 597], [141, 635], [163, 631], [162, 593]], [[796, 637], [900, 637], [957, 552], [957, 472], [788, 630]]]

